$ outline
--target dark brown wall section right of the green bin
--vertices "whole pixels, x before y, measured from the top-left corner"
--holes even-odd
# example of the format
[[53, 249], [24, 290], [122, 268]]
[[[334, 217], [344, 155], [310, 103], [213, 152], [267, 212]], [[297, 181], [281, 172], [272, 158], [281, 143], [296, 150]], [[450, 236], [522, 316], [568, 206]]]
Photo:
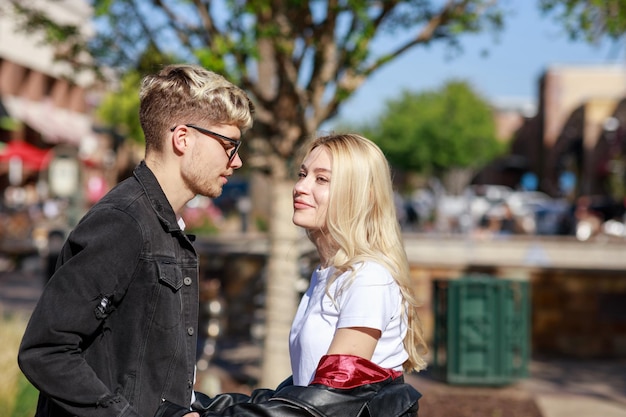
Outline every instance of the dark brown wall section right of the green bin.
[[626, 273], [540, 271], [532, 276], [534, 353], [626, 357]]

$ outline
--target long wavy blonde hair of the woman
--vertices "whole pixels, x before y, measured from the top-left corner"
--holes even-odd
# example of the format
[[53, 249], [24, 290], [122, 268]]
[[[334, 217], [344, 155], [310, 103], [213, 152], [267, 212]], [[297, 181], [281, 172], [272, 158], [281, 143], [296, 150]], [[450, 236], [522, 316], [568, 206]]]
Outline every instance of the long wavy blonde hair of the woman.
[[354, 273], [357, 263], [375, 261], [385, 266], [400, 287], [407, 311], [404, 347], [409, 358], [403, 368], [407, 372], [424, 369], [427, 346], [417, 315], [418, 303], [411, 286], [387, 159], [376, 144], [357, 134], [316, 138], [305, 152], [308, 155], [320, 146], [329, 151], [332, 161], [326, 233], [337, 251], [328, 260], [328, 266], [336, 269], [329, 285], [346, 271]]

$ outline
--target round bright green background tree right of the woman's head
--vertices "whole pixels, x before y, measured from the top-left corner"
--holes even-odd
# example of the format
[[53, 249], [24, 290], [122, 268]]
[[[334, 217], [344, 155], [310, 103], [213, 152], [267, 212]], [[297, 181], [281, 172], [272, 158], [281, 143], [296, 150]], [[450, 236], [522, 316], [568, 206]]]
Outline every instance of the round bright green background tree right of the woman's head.
[[405, 91], [363, 130], [391, 165], [427, 175], [477, 168], [502, 151], [490, 105], [461, 81], [436, 91]]

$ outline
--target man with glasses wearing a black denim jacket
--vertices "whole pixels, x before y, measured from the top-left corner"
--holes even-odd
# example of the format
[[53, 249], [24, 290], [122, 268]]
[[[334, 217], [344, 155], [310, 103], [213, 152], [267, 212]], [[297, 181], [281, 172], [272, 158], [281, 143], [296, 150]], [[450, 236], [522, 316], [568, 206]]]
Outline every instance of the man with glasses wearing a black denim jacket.
[[194, 400], [198, 256], [180, 213], [241, 167], [254, 107], [191, 65], [145, 77], [140, 103], [145, 159], [70, 233], [20, 346], [37, 417], [145, 417], [164, 398]]

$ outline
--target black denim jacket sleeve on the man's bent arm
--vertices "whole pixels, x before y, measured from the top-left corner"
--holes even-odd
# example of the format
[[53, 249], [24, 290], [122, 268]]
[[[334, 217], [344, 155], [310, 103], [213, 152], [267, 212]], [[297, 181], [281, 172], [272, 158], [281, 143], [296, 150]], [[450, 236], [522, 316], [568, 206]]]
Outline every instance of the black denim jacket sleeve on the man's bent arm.
[[141, 230], [115, 210], [87, 214], [63, 246], [19, 350], [24, 375], [71, 415], [136, 415], [83, 357], [102, 330], [102, 319], [124, 293], [142, 247]]

